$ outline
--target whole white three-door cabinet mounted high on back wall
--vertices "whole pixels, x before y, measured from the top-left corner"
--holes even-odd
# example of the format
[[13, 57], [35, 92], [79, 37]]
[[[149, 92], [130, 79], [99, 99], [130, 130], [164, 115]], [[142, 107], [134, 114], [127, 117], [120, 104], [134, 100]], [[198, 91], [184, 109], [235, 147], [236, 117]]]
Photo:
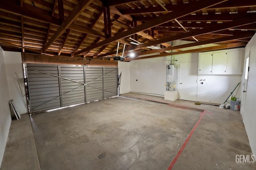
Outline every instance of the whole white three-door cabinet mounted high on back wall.
[[242, 74], [243, 49], [199, 53], [198, 74]]

